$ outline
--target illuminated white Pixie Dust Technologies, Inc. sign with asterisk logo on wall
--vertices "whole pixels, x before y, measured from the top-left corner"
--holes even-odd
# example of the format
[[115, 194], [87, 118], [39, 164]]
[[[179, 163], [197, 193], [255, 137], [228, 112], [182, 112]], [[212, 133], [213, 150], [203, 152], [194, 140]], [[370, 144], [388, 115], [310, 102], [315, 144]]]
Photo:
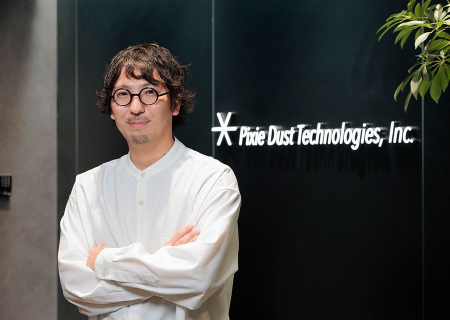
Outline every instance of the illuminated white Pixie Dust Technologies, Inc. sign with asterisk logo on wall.
[[346, 144], [352, 150], [357, 150], [361, 144], [376, 144], [378, 147], [386, 143], [412, 143], [412, 131], [416, 127], [398, 126], [396, 121], [391, 121], [389, 129], [381, 126], [373, 126], [371, 123], [362, 123], [361, 127], [350, 127], [349, 122], [342, 122], [339, 128], [324, 128], [322, 122], [310, 126], [297, 124], [289, 129], [278, 125], [262, 126], [229, 126], [232, 112], [217, 112], [220, 126], [211, 128], [213, 132], [220, 132], [217, 145], [221, 145], [223, 138], [228, 145], [233, 144], [229, 136], [230, 132], [239, 130], [238, 145], [326, 145]]

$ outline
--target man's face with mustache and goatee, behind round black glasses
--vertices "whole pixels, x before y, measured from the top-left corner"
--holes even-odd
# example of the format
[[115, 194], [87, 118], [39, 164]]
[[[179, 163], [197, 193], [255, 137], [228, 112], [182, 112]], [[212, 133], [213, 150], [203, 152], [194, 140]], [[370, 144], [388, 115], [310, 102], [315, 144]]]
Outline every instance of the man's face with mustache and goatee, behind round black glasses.
[[[138, 68], [134, 69], [134, 74], [140, 75]], [[156, 70], [153, 70], [153, 77], [160, 79]], [[150, 86], [159, 94], [167, 92], [164, 84], [153, 85], [145, 79], [129, 78], [125, 75], [125, 67], [120, 69], [120, 75], [112, 89], [114, 92], [118, 88], [126, 88], [131, 93]], [[169, 94], [159, 96], [156, 103], [151, 105], [143, 104], [138, 96], [132, 96], [131, 102], [126, 106], [120, 106], [111, 98], [111, 119], [125, 137], [129, 144], [154, 143], [172, 135], [172, 115], [179, 113], [179, 100], [175, 100], [173, 109], [170, 108]]]

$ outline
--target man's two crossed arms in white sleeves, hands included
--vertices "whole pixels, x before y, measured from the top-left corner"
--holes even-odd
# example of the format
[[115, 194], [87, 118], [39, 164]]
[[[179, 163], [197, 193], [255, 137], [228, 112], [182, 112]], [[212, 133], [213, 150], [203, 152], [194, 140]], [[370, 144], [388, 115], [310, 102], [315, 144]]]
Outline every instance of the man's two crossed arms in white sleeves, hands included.
[[58, 251], [64, 296], [86, 315], [115, 311], [153, 295], [198, 308], [237, 270], [239, 207], [236, 190], [212, 192], [193, 220], [201, 234], [186, 226], [150, 254], [139, 242], [95, 246], [89, 218], [69, 197]]

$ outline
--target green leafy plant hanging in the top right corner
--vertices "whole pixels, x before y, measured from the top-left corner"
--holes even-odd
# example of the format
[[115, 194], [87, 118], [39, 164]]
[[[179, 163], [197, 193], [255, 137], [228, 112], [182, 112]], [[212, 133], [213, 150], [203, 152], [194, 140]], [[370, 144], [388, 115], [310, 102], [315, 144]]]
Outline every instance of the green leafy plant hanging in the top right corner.
[[394, 99], [409, 83], [409, 92], [404, 101], [404, 110], [407, 110], [411, 95], [417, 99], [418, 94], [423, 98], [429, 89], [431, 98], [437, 103], [442, 92], [448, 86], [450, 79], [450, 1], [446, 5], [429, 5], [426, 0], [423, 6], [410, 0], [407, 9], [390, 15], [376, 33], [384, 29], [381, 37], [392, 27], [398, 32], [395, 43], [400, 42], [401, 48], [412, 31], [414, 33], [414, 46], [420, 46], [421, 52], [417, 54], [417, 61], [408, 69], [409, 75], [398, 85], [394, 92]]

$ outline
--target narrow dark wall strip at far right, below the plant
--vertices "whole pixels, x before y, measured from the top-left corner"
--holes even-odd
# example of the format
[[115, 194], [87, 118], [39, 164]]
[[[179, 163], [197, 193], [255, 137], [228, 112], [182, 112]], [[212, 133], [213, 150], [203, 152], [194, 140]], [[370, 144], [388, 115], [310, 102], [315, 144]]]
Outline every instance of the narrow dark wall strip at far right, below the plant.
[[429, 319], [449, 316], [450, 293], [450, 96], [438, 104], [427, 98], [424, 109], [424, 273], [425, 314]]

